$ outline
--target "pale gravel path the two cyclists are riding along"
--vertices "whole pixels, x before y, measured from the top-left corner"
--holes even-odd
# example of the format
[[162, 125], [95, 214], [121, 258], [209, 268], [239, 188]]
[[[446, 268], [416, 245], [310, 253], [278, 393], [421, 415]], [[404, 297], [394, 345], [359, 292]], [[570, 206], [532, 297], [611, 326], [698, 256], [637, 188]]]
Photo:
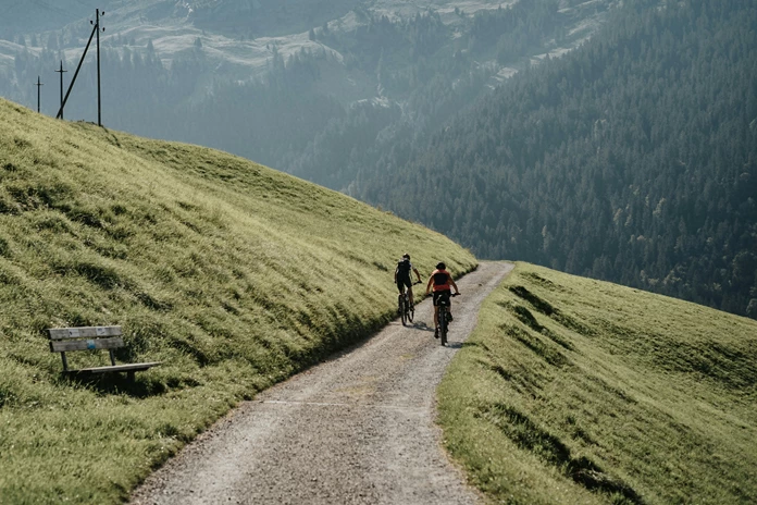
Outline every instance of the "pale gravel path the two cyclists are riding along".
[[[146, 504], [467, 504], [479, 502], [442, 448], [435, 390], [512, 264], [458, 281], [449, 343], [431, 300], [365, 343], [241, 404], [137, 489]], [[415, 286], [424, 287], [424, 286]]]

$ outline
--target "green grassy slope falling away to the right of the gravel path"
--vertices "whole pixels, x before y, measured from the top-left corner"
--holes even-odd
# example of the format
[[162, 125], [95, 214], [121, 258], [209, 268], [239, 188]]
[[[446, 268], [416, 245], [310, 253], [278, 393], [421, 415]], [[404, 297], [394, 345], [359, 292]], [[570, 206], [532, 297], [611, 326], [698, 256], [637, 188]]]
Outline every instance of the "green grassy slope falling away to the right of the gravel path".
[[495, 503], [757, 503], [757, 322], [519, 263], [438, 391]]

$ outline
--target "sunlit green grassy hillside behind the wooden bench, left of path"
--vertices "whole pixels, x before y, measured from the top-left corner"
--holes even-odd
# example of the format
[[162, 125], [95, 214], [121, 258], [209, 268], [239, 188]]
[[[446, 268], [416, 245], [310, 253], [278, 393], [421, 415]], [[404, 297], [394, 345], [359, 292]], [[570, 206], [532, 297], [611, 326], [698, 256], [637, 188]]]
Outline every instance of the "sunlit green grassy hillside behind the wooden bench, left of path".
[[[125, 498], [236, 402], [387, 322], [405, 250], [424, 273], [475, 266], [240, 158], [0, 100], [0, 503]], [[45, 329], [90, 324], [124, 327], [119, 359], [164, 365], [66, 380]]]

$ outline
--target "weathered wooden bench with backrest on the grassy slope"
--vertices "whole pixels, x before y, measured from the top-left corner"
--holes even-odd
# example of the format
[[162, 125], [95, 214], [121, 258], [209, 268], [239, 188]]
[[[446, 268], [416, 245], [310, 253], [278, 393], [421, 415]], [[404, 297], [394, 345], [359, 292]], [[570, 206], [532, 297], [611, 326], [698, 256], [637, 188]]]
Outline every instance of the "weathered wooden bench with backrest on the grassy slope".
[[[121, 337], [121, 327], [83, 327], [83, 328], [51, 328], [48, 330], [50, 352], [60, 353], [63, 359], [63, 372], [72, 375], [94, 373], [126, 372], [131, 381], [134, 373], [160, 365], [160, 361], [116, 365], [113, 349], [124, 346]], [[65, 354], [72, 350], [108, 349], [111, 359], [110, 367], [69, 369]]]

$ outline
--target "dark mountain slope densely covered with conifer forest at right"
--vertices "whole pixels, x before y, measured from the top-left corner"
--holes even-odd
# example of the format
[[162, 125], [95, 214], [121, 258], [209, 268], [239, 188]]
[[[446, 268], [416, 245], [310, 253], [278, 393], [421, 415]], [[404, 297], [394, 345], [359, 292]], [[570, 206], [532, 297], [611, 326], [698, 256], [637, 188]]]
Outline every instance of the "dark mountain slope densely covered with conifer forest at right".
[[357, 194], [484, 257], [757, 317], [757, 5], [626, 2]]

